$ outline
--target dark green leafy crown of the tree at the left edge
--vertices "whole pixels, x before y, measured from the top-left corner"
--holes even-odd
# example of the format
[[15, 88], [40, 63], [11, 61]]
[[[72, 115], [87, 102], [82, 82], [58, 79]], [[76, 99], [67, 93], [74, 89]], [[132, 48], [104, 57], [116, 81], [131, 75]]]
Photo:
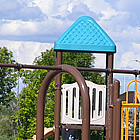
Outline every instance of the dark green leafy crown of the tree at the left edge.
[[[13, 54], [6, 47], [0, 48], [0, 63], [15, 64]], [[14, 98], [12, 89], [16, 87], [15, 70], [11, 68], [0, 68], [0, 103], [9, 106]]]

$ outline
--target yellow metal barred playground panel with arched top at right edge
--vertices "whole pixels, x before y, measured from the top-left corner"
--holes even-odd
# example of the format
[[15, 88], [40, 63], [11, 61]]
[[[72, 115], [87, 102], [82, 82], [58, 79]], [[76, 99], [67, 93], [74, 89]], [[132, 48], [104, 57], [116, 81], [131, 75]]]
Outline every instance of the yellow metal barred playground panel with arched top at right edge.
[[[130, 102], [128, 89], [132, 83], [135, 83], [135, 90], [133, 102]], [[129, 138], [133, 138], [133, 140], [140, 140], [140, 93], [137, 89], [138, 83], [140, 83], [139, 80], [132, 80], [128, 83], [126, 101], [122, 101], [121, 140], [128, 140]]]

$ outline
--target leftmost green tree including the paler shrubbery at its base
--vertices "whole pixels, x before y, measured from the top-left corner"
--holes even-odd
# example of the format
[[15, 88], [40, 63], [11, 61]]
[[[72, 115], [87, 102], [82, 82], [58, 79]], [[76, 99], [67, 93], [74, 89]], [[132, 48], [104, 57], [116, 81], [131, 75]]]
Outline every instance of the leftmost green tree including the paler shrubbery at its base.
[[[0, 47], [0, 63], [15, 64], [13, 53], [6, 47]], [[11, 115], [15, 114], [16, 71], [11, 68], [0, 68], [0, 136], [14, 135]]]

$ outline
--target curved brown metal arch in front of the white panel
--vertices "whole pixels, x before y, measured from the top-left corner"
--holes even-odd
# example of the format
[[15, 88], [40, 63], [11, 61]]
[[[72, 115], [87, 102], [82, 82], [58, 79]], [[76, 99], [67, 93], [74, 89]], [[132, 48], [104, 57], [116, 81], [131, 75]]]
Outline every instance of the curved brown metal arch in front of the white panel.
[[74, 67], [68, 65], [60, 65], [62, 70], [50, 71], [41, 84], [41, 88], [37, 100], [37, 140], [44, 139], [44, 107], [45, 98], [48, 87], [53, 80], [53, 78], [62, 72], [71, 74], [77, 81], [82, 101], [83, 101], [83, 119], [82, 119], [82, 140], [90, 139], [90, 99], [88, 94], [87, 85], [81, 73]]

